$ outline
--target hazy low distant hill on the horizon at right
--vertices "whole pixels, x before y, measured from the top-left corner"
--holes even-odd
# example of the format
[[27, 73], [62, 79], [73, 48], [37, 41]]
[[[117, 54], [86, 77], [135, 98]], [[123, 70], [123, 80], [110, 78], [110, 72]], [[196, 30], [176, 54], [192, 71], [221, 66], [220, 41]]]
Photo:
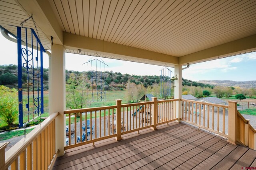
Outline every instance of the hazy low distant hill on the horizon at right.
[[241, 88], [255, 88], [256, 87], [256, 80], [254, 81], [244, 81], [244, 82], [236, 82], [231, 80], [200, 80], [204, 84], [212, 84], [214, 86], [232, 86], [236, 87], [239, 86]]

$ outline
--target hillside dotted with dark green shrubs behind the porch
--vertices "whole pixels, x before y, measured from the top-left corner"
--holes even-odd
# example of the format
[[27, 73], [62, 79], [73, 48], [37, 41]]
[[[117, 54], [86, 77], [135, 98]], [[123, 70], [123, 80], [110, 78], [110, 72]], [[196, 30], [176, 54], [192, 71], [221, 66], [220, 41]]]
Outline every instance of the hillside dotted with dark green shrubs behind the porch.
[[[8, 86], [9, 88], [18, 88], [18, 67], [17, 65], [2, 65], [0, 66], [0, 85]], [[24, 70], [24, 68], [22, 68]], [[22, 74], [22, 82], [25, 84], [27, 82], [27, 76], [25, 73]], [[155, 76], [138, 76], [138, 75], [130, 75], [130, 74], [122, 74], [120, 72], [106, 71], [102, 72], [79, 72], [73, 70], [66, 70], [66, 83], [68, 82], [70, 75], [74, 74], [77, 80], [84, 79], [85, 86], [88, 88], [92, 88], [92, 79], [93, 77], [93, 86], [94, 89], [96, 85], [104, 84], [104, 78], [106, 80], [105, 88], [106, 90], [123, 90], [126, 88], [126, 83], [132, 82], [135, 84], [142, 84], [144, 87], [151, 87], [153, 84], [160, 84], [160, 75]], [[81, 77], [82, 76], [82, 77]], [[102, 81], [100, 82], [100, 76], [102, 76]], [[96, 82], [96, 77], [98, 81]], [[44, 78], [44, 90], [48, 90], [48, 68], [44, 68], [43, 72]], [[165, 80], [169, 80], [168, 77], [164, 78]], [[32, 82], [32, 76], [29, 76], [29, 82]], [[171, 80], [171, 83], [174, 84], [174, 80]], [[186, 86], [200, 86], [200, 87], [209, 87], [214, 88], [214, 86], [210, 84], [204, 84], [202, 82], [195, 82], [192, 80], [187, 80], [182, 78], [182, 85]], [[32, 86], [30, 86], [32, 88]]]

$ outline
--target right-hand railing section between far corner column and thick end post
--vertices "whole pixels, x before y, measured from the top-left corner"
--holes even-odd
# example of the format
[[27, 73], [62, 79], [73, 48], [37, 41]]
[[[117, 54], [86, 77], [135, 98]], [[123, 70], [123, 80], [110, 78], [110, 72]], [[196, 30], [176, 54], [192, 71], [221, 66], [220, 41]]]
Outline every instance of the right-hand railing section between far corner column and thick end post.
[[228, 106], [185, 99], [181, 101], [182, 121], [228, 137]]

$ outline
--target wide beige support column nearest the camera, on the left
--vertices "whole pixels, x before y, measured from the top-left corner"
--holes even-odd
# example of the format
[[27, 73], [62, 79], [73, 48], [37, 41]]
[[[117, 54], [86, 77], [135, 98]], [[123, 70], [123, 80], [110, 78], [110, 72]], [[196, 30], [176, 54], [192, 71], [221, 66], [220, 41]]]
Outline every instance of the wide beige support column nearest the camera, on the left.
[[56, 117], [56, 150], [58, 156], [64, 155], [65, 146], [65, 116], [66, 108], [66, 71], [65, 49], [63, 45], [52, 45], [52, 56], [49, 59], [49, 113], [59, 112]]

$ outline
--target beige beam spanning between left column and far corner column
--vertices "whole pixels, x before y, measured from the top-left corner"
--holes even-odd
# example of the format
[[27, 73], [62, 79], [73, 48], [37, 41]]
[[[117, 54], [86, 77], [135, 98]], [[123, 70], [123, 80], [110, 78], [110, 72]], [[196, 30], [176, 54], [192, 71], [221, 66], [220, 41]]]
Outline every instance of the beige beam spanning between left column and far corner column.
[[63, 32], [63, 45], [66, 49], [88, 51], [103, 55], [114, 55], [124, 59], [139, 59], [145, 63], [155, 63], [156, 65], [167, 64], [170, 67], [178, 64], [178, 57], [156, 53], [148, 50], [129, 47], [108, 41], [74, 35]]

